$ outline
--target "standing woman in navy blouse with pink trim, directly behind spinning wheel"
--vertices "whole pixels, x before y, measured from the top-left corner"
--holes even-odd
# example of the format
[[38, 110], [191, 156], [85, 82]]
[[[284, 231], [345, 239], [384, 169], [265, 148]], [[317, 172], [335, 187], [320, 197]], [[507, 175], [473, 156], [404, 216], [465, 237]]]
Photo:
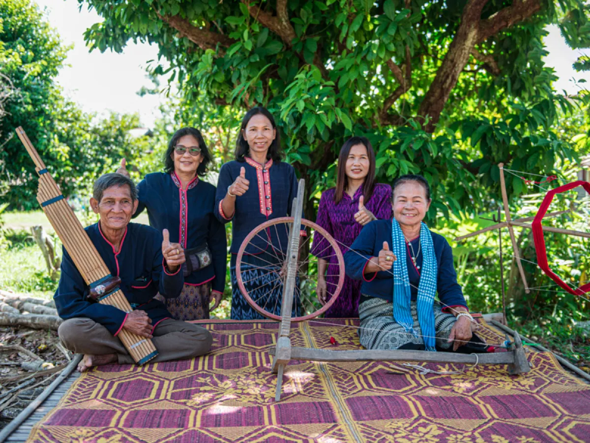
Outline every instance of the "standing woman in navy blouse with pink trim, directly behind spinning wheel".
[[[264, 318], [240, 292], [235, 275], [235, 258], [248, 233], [267, 220], [286, 217], [297, 195], [297, 177], [289, 164], [281, 161], [279, 133], [274, 118], [265, 108], [249, 110], [235, 146], [235, 160], [219, 171], [215, 215], [222, 223], [232, 220], [231, 318]], [[266, 236], [251, 240], [241, 263], [241, 277], [248, 295], [258, 305], [280, 315], [283, 286], [280, 258], [288, 243], [286, 229], [268, 229]], [[293, 315], [299, 315], [299, 297]]]

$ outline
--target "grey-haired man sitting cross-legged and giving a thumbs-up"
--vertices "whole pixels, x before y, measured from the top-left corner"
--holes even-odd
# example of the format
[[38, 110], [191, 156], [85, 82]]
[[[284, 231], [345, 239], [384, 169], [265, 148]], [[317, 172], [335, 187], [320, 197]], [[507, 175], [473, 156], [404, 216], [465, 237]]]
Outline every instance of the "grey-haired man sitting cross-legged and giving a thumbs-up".
[[104, 174], [94, 183], [90, 206], [99, 222], [86, 228], [91, 242], [113, 276], [121, 279], [120, 289], [133, 311], [127, 314], [111, 305], [87, 298], [89, 286], [64, 249], [61, 278], [55, 292], [55, 306], [65, 321], [58, 334], [65, 347], [84, 354], [80, 372], [108, 363], [135, 363], [117, 334], [124, 328], [141, 337], [152, 338], [158, 356], [152, 362], [190, 359], [211, 348], [209, 331], [200, 326], [172, 320], [166, 307], [154, 296], [166, 298], [181, 293], [184, 251], [170, 243], [168, 231], [129, 223], [137, 208], [137, 189], [121, 174]]

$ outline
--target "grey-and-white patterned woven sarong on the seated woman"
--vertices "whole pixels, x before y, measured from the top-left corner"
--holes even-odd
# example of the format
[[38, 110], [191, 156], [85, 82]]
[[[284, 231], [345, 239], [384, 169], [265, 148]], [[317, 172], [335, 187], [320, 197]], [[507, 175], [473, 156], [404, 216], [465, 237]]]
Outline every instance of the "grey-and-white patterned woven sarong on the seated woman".
[[[417, 337], [407, 333], [401, 324], [396, 323], [391, 315], [391, 302], [375, 297], [362, 302], [359, 305], [360, 344], [367, 349], [397, 349], [408, 343], [424, 345], [415, 301], [411, 302], [410, 308]], [[457, 320], [454, 315], [442, 312], [440, 304], [434, 303], [434, 327], [438, 348], [447, 350], [453, 346], [453, 343], [448, 343], [447, 340], [455, 321]]]

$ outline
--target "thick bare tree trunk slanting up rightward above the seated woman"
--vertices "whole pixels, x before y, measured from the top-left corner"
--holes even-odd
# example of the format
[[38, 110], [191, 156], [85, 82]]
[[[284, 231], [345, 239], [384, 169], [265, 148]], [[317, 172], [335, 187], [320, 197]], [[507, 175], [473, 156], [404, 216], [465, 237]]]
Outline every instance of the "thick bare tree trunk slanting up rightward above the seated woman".
[[467, 2], [457, 34], [453, 38], [444, 60], [442, 60], [437, 76], [424, 96], [424, 100], [422, 100], [418, 115], [421, 118], [428, 119], [425, 126], [427, 132], [434, 131], [451, 90], [457, 84], [459, 75], [469, 60], [471, 50], [477, 43], [481, 9], [485, 4], [486, 2], [482, 0], [469, 0]]

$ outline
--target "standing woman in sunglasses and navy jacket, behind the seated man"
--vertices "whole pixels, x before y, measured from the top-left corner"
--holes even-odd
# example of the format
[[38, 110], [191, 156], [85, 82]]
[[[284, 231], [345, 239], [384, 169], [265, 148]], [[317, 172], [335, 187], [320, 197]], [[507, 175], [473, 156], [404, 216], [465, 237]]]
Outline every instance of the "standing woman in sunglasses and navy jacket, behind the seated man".
[[[215, 186], [200, 180], [207, 173], [211, 155], [201, 132], [182, 128], [174, 133], [166, 150], [164, 172], [148, 174], [137, 185], [139, 206], [133, 217], [148, 210], [149, 223], [168, 229], [171, 242], [185, 249], [185, 284], [178, 298], [166, 299], [176, 320], [209, 318], [225, 288], [227, 239], [224, 226], [214, 215]], [[129, 175], [124, 159], [117, 172]]]

